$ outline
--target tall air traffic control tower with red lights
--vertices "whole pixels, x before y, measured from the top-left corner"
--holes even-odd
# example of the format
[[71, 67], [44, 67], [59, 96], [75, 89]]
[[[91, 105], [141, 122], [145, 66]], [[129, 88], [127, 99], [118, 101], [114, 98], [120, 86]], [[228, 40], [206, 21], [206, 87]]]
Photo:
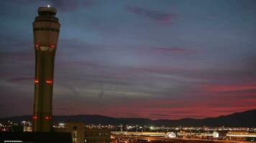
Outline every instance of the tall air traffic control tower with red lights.
[[35, 103], [33, 132], [52, 131], [52, 89], [60, 23], [54, 7], [42, 6], [33, 22], [35, 43]]

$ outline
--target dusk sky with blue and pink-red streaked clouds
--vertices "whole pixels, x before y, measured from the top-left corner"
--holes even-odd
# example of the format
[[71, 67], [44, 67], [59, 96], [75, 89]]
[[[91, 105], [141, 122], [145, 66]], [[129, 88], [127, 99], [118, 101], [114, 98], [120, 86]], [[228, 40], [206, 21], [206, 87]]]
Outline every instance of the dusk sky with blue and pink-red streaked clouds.
[[0, 117], [32, 114], [37, 8], [58, 9], [53, 114], [181, 119], [256, 109], [255, 0], [0, 2]]

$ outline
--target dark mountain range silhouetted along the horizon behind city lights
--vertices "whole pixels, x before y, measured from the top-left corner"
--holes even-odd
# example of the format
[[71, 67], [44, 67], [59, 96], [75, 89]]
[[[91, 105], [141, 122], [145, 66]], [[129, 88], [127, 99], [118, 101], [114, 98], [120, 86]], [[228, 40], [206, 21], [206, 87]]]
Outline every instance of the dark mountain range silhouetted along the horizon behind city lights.
[[[6, 117], [1, 118], [0, 122], [13, 121], [31, 121], [31, 115], [24, 115], [19, 117]], [[234, 114], [229, 114], [220, 117], [209, 117], [204, 119], [146, 119], [146, 118], [114, 118], [106, 117], [101, 115], [91, 115], [91, 114], [78, 114], [69, 116], [53, 116], [53, 122], [85, 122], [86, 124], [129, 124], [140, 126], [168, 126], [168, 127], [256, 127], [256, 109], [237, 112]]]

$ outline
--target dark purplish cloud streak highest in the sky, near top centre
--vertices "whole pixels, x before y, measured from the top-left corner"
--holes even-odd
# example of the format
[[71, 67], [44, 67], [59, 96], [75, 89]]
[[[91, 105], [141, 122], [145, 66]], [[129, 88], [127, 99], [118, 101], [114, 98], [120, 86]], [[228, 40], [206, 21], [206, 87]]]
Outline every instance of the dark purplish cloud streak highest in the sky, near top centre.
[[149, 17], [155, 21], [161, 21], [163, 23], [168, 23], [170, 19], [175, 17], [175, 14], [164, 13], [163, 11], [154, 11], [149, 9], [142, 9], [137, 6], [125, 6], [128, 11], [131, 11], [133, 14], [140, 16]]

